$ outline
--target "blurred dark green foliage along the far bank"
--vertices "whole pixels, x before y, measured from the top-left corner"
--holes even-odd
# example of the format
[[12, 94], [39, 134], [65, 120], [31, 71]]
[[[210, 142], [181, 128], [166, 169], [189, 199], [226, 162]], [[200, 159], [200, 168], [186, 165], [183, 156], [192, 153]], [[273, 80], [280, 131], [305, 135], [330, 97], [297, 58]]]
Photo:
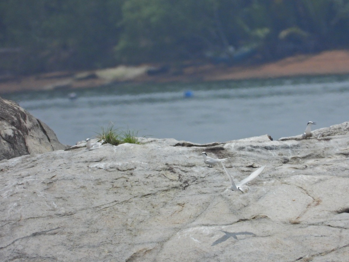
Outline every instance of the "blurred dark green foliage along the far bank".
[[349, 45], [348, 0], [1, 0], [0, 74]]

